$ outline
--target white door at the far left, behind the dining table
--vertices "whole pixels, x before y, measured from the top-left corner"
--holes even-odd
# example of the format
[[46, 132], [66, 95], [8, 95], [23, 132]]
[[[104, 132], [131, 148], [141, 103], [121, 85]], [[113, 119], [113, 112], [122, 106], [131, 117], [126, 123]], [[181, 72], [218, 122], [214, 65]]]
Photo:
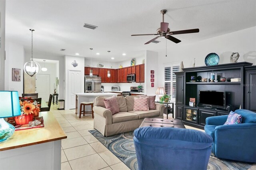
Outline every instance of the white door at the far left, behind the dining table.
[[38, 98], [42, 98], [44, 101], [49, 100], [50, 96], [50, 75], [49, 74], [37, 74], [36, 75], [36, 87], [35, 92], [38, 93]]

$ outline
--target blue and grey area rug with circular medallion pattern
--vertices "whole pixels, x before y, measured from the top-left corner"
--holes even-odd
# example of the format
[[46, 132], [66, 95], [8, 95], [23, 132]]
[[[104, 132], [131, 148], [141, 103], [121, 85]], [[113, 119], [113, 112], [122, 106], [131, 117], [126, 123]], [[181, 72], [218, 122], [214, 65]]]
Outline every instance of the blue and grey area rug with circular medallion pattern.
[[[133, 131], [104, 137], [98, 130], [89, 130], [108, 150], [118, 157], [131, 170], [138, 170], [136, 152], [133, 143]], [[207, 170], [247, 170], [250, 163], [216, 158], [211, 155]]]

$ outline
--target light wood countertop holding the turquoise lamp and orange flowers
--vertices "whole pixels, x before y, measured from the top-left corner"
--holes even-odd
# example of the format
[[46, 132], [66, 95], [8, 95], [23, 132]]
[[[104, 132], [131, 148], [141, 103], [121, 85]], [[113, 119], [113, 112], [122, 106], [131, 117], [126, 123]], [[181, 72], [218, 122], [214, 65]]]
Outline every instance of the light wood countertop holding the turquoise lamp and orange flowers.
[[52, 113], [40, 112], [39, 116], [44, 118], [44, 127], [15, 131], [10, 138], [0, 142], [0, 151], [67, 138]]

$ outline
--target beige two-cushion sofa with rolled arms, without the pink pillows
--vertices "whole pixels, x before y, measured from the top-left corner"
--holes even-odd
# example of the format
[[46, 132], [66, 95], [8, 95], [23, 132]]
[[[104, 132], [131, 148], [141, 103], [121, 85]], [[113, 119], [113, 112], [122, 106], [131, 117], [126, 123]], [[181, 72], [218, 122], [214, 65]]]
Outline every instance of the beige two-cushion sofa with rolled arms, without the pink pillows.
[[106, 109], [104, 98], [98, 96], [94, 99], [94, 123], [96, 128], [103, 136], [110, 136], [122, 132], [135, 130], [140, 126], [144, 118], [164, 118], [164, 105], [156, 103], [156, 109], [149, 111], [134, 111], [134, 97], [138, 96], [118, 96], [117, 103], [119, 113], [112, 115], [111, 111]]

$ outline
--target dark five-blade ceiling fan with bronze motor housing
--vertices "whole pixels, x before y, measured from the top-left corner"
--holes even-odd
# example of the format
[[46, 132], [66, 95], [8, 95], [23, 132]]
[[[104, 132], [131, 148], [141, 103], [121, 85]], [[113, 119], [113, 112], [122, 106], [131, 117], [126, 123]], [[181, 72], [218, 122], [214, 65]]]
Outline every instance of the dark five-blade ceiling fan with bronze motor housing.
[[179, 43], [181, 42], [177, 38], [171, 36], [171, 35], [176, 35], [176, 34], [188, 34], [188, 33], [196, 33], [199, 32], [199, 29], [191, 29], [191, 30], [180, 30], [180, 31], [170, 31], [170, 28], [168, 28], [169, 23], [164, 22], [164, 14], [166, 14], [167, 10], [161, 10], [160, 13], [162, 14], [163, 22], [160, 24], [160, 28], [156, 30], [157, 34], [135, 34], [132, 36], [156, 36], [156, 38], [153, 38], [152, 40], [146, 42], [145, 44], [151, 43], [154, 40], [158, 39], [159, 37], [162, 38], [167, 38], [168, 40], [171, 40], [172, 42]]

